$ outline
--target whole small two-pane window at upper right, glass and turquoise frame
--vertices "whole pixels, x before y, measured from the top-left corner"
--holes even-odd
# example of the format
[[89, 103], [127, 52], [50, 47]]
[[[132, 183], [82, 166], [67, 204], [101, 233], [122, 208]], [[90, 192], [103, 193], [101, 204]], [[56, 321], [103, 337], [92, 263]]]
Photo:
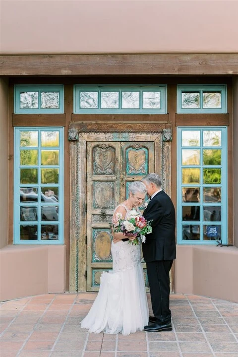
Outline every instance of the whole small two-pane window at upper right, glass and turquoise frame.
[[177, 113], [227, 113], [226, 85], [178, 85]]

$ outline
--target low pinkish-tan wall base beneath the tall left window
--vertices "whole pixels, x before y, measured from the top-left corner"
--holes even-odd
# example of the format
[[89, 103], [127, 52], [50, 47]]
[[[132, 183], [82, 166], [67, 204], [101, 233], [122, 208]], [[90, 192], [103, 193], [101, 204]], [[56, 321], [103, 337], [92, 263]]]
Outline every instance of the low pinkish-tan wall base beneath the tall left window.
[[0, 249], [0, 301], [64, 292], [64, 245], [7, 245]]

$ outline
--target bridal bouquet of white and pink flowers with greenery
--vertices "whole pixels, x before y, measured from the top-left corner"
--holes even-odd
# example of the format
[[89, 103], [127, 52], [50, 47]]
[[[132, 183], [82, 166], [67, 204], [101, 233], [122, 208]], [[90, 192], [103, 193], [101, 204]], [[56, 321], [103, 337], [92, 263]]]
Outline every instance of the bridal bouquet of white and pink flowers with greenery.
[[142, 242], [145, 242], [145, 235], [152, 232], [150, 225], [151, 221], [146, 221], [144, 217], [136, 210], [131, 210], [125, 219], [122, 219], [122, 214], [117, 213], [115, 223], [113, 224], [114, 232], [122, 232], [125, 237], [136, 237], [129, 240], [131, 244], [139, 244], [138, 236]]

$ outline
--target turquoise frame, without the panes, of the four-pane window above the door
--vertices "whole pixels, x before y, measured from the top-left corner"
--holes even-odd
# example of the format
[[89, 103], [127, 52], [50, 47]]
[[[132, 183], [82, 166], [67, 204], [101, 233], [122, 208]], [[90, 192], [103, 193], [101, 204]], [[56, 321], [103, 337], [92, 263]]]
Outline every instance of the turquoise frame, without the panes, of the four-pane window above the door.
[[[88, 108], [82, 109], [80, 108], [80, 92], [91, 91], [98, 93], [98, 108]], [[104, 109], [101, 108], [101, 92], [119, 92], [119, 108], [115, 109]], [[138, 109], [123, 109], [122, 105], [122, 92], [140, 92], [140, 100]], [[161, 92], [161, 102], [160, 109], [148, 109], [143, 108], [142, 103], [142, 92], [150, 92], [150, 91], [160, 91]], [[166, 114], [167, 113], [167, 85], [79, 85], [75, 84], [73, 88], [73, 113], [74, 114]]]

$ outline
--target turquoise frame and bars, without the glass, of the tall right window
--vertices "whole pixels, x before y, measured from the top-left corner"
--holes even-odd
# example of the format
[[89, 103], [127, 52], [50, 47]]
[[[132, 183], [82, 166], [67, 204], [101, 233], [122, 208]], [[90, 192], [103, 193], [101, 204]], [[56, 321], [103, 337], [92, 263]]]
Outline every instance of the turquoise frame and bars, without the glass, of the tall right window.
[[[199, 146], [182, 146], [182, 131], [199, 131], [200, 130], [200, 145]], [[222, 132], [222, 145], [219, 147], [222, 149], [221, 165], [207, 166], [203, 165], [202, 162], [202, 148], [205, 149], [217, 149], [217, 146], [202, 146], [202, 133], [203, 131], [221, 130]], [[200, 149], [200, 165], [182, 165], [182, 149]], [[210, 225], [221, 225], [221, 237], [222, 243], [228, 243], [228, 191], [227, 191], [227, 175], [228, 175], [228, 152], [227, 152], [227, 127], [224, 126], [206, 126], [206, 127], [194, 127], [194, 126], [183, 126], [177, 128], [177, 243], [181, 245], [215, 245], [217, 240], [183, 240], [182, 239], [182, 225], [200, 225], [200, 232], [203, 233], [203, 226], [208, 226], [208, 222], [203, 218], [203, 206], [221, 206], [222, 214], [221, 221], [215, 221], [210, 223]], [[221, 184], [215, 184], [215, 186], [221, 187], [221, 203], [208, 203], [203, 201], [203, 187], [214, 187], [214, 184], [203, 183], [203, 168], [222, 168]], [[182, 168], [200, 168], [200, 184], [182, 184]], [[191, 202], [185, 203], [182, 201], [182, 187], [199, 187], [200, 186], [200, 202], [192, 204]], [[183, 206], [200, 206], [200, 220], [199, 221], [182, 221], [182, 207]]]

